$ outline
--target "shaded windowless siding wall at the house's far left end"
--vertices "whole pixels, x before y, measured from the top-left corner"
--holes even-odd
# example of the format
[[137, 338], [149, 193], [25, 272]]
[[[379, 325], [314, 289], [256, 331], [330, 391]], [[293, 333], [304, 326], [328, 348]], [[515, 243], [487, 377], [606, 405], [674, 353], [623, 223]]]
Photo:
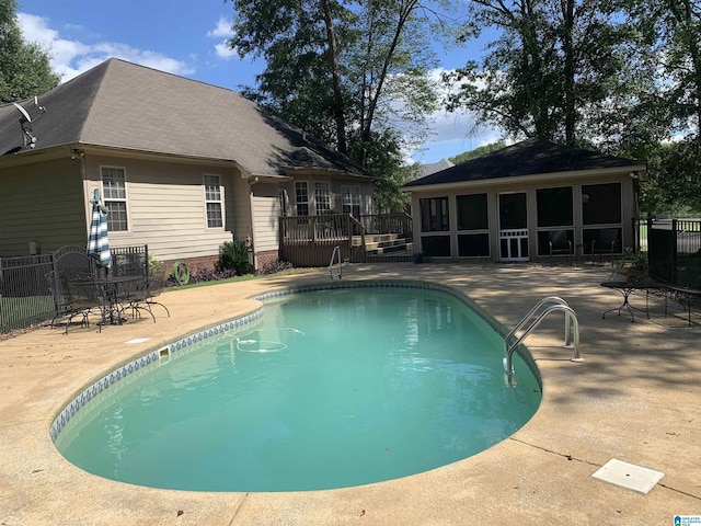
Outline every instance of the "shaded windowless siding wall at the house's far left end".
[[3, 169], [0, 173], [0, 256], [42, 253], [88, 242], [80, 163], [71, 159]]

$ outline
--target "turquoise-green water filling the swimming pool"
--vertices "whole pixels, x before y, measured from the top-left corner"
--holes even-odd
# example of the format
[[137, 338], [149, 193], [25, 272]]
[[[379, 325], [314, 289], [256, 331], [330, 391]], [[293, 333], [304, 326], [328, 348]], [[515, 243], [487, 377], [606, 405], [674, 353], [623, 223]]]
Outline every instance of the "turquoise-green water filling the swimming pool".
[[475, 455], [540, 403], [520, 358], [519, 384], [507, 387], [503, 340], [451, 295], [346, 288], [263, 309], [253, 327], [91, 402], [58, 449], [91, 473], [147, 487], [322, 490]]

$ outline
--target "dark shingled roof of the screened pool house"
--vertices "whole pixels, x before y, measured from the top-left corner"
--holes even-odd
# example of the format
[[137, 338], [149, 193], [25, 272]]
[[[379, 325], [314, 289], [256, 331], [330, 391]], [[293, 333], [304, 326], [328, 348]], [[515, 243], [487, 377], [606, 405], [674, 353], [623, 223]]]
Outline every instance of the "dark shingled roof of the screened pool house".
[[640, 164], [639, 161], [606, 156], [582, 148], [541, 139], [527, 139], [478, 159], [432, 173], [404, 186], [413, 187], [609, 168], [624, 169]]

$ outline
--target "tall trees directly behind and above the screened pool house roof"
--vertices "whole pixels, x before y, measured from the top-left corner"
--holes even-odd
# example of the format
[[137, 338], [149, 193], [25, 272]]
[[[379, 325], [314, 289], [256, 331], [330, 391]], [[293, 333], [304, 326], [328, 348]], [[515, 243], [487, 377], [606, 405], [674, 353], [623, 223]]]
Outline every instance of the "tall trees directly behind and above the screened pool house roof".
[[447, 78], [461, 82], [449, 108], [472, 110], [514, 137], [575, 145], [610, 105], [624, 105], [634, 35], [614, 1], [473, 0], [469, 20], [466, 38], [487, 26], [502, 33], [482, 64]]

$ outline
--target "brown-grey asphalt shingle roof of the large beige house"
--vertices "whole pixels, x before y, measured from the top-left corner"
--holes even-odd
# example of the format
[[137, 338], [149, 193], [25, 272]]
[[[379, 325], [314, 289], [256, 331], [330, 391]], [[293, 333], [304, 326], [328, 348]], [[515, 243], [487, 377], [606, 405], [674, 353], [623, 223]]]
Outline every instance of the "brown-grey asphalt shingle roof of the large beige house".
[[[47, 111], [32, 125], [35, 151], [81, 144], [234, 160], [251, 175], [278, 176], [297, 168], [371, 176], [232, 90], [116, 58], [38, 101]], [[33, 101], [22, 105], [37, 113]], [[19, 117], [12, 104], [0, 106], [0, 155], [23, 146]]]

